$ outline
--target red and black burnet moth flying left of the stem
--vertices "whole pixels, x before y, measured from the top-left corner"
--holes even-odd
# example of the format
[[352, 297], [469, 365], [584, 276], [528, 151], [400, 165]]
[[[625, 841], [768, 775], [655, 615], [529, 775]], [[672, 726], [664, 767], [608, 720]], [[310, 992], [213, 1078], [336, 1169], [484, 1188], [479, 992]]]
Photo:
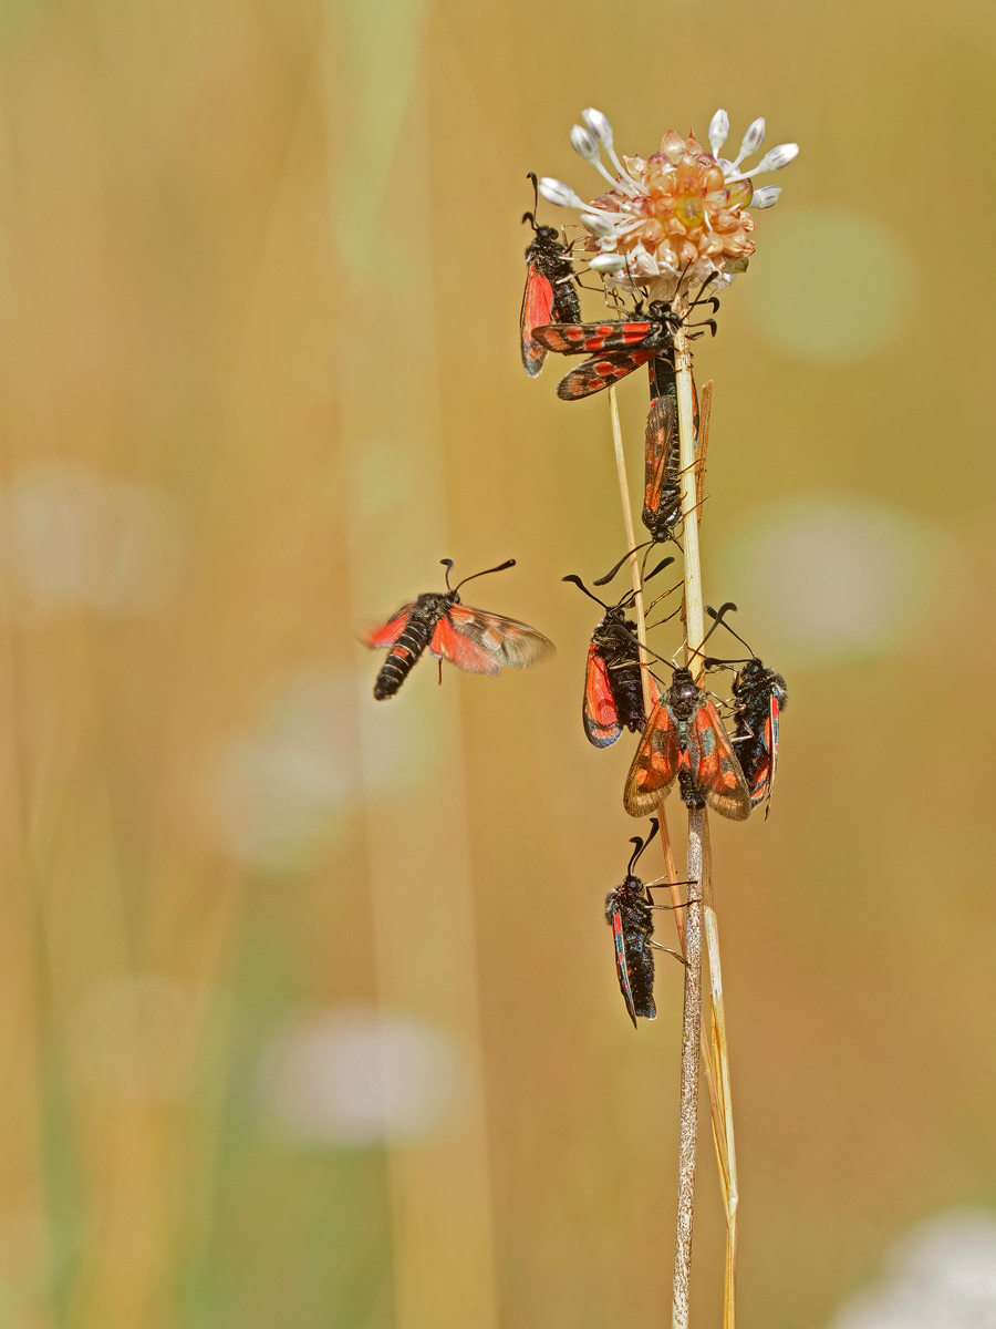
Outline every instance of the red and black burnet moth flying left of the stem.
[[456, 587], [450, 587], [453, 560], [441, 558], [440, 562], [446, 569], [445, 594], [429, 591], [418, 595], [367, 639], [374, 650], [389, 647], [373, 684], [378, 702], [397, 692], [426, 649], [430, 655], [450, 661], [467, 674], [498, 674], [502, 666], [529, 668], [554, 654], [554, 643], [535, 627], [461, 603], [458, 593], [465, 582], [514, 567], [514, 558], [465, 577]]

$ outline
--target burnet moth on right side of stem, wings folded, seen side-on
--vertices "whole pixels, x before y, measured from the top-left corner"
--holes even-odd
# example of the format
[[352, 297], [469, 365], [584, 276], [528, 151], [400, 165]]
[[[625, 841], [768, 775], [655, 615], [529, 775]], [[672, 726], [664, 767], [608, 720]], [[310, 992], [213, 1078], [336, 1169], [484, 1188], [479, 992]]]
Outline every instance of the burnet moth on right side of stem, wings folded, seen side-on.
[[750, 789], [750, 807], [756, 808], [760, 803], [765, 803], [766, 819], [772, 809], [774, 772], [778, 764], [778, 720], [789, 704], [789, 691], [781, 674], [766, 668], [764, 661], [754, 655], [753, 647], [748, 646], [740, 633], [734, 633], [726, 622], [725, 614], [728, 610], [736, 611], [736, 607], [728, 601], [718, 610], [706, 605], [705, 611], [716, 619], [717, 626], [722, 623], [728, 633], [746, 646], [750, 658], [745, 661], [709, 658], [705, 661], [705, 667], [742, 666], [733, 674], [733, 708], [737, 722], [733, 746]]

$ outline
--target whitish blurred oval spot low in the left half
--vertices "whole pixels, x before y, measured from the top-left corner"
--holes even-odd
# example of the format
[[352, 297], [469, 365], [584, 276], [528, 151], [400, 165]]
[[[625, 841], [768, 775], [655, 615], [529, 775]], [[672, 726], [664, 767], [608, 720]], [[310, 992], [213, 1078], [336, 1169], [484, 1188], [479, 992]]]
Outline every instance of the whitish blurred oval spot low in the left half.
[[267, 1053], [267, 1115], [304, 1144], [416, 1143], [453, 1128], [469, 1091], [453, 1035], [422, 1017], [348, 1006], [301, 1015]]

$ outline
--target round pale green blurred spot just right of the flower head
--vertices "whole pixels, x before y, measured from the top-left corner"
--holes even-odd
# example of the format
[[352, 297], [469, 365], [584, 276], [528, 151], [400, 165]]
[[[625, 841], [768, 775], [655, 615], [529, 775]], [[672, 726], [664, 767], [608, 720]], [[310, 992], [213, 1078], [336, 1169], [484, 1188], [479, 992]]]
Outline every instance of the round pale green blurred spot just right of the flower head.
[[745, 279], [754, 322], [782, 351], [850, 360], [900, 326], [910, 276], [894, 238], [865, 217], [794, 210], [765, 218], [765, 256]]

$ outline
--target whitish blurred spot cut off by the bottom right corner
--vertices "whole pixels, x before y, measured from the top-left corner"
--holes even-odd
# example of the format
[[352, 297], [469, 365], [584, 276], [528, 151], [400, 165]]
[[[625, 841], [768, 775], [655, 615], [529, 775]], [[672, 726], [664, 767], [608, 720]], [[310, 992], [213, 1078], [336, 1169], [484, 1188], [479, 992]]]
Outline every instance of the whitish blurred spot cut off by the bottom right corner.
[[882, 1284], [858, 1294], [830, 1329], [996, 1329], [996, 1215], [938, 1215], [887, 1263]]

